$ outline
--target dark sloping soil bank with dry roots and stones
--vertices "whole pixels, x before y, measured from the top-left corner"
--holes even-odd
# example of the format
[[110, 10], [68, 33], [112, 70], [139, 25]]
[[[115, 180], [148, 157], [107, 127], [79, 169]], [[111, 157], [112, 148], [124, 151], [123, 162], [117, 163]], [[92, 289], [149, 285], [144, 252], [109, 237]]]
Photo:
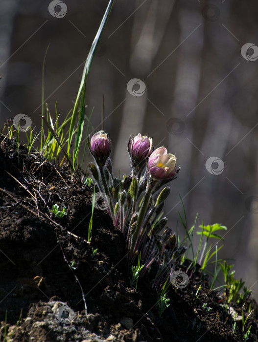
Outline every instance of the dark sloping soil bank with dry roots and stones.
[[[94, 210], [87, 241], [92, 195], [69, 168], [34, 149], [18, 154], [0, 136], [0, 341], [244, 341], [242, 322], [234, 333], [223, 294], [198, 271], [186, 288], [170, 286], [159, 317], [148, 275], [130, 287], [124, 236], [105, 211]], [[54, 204], [67, 215], [52, 215]], [[251, 326], [248, 341], [258, 341], [258, 304], [248, 299], [245, 317], [249, 304], [245, 332]], [[241, 305], [234, 309], [241, 315]]]

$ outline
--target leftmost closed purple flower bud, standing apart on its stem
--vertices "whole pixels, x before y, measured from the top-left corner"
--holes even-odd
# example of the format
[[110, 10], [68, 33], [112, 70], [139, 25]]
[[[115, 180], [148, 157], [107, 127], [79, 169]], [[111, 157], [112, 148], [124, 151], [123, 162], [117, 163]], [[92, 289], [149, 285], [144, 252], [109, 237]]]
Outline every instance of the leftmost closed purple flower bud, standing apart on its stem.
[[104, 165], [111, 152], [111, 143], [103, 130], [95, 133], [91, 139], [91, 149], [94, 157]]

